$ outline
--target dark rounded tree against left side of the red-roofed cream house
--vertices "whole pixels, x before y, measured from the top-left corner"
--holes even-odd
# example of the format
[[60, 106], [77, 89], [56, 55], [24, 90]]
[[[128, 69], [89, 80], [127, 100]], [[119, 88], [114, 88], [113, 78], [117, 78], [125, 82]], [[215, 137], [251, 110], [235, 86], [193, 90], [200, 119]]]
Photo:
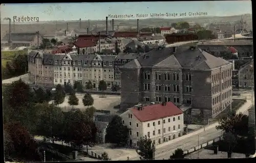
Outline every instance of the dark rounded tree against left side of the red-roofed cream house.
[[122, 118], [115, 115], [106, 128], [105, 140], [109, 143], [115, 143], [117, 146], [126, 145], [129, 138], [129, 129], [123, 126]]

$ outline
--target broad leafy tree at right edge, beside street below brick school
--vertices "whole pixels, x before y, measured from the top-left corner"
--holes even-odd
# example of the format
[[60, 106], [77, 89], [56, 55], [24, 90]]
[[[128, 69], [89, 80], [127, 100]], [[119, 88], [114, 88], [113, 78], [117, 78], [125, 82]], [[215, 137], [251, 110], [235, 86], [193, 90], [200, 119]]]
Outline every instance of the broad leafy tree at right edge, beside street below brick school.
[[231, 132], [234, 135], [246, 136], [248, 133], [248, 116], [241, 112], [239, 114], [233, 112], [228, 118], [221, 119], [216, 129]]

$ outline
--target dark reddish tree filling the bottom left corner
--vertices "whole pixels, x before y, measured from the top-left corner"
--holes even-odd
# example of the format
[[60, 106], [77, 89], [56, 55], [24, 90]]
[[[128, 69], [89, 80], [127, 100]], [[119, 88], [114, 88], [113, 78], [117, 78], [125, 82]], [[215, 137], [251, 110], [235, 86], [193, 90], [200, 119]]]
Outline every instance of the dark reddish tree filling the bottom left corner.
[[13, 145], [13, 151], [7, 157], [15, 158], [18, 161], [41, 160], [37, 144], [25, 127], [20, 123], [13, 122], [5, 124], [4, 128], [9, 133]]

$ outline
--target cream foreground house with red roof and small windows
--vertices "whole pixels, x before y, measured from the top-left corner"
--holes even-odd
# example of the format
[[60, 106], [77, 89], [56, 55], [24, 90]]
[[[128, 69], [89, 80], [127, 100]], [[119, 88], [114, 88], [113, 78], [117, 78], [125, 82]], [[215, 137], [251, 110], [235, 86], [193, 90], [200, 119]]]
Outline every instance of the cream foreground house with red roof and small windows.
[[156, 145], [168, 142], [183, 134], [183, 111], [172, 102], [138, 105], [120, 115], [129, 130], [129, 145], [138, 146], [140, 137], [147, 136]]

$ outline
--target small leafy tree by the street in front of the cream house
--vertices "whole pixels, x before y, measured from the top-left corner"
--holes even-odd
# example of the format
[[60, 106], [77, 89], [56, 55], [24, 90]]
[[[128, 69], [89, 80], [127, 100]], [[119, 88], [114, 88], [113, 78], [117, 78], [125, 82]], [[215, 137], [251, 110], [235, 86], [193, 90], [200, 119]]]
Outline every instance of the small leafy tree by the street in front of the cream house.
[[140, 137], [139, 146], [136, 148], [136, 152], [140, 155], [140, 159], [152, 160], [154, 159], [155, 145], [152, 143], [150, 137]]

